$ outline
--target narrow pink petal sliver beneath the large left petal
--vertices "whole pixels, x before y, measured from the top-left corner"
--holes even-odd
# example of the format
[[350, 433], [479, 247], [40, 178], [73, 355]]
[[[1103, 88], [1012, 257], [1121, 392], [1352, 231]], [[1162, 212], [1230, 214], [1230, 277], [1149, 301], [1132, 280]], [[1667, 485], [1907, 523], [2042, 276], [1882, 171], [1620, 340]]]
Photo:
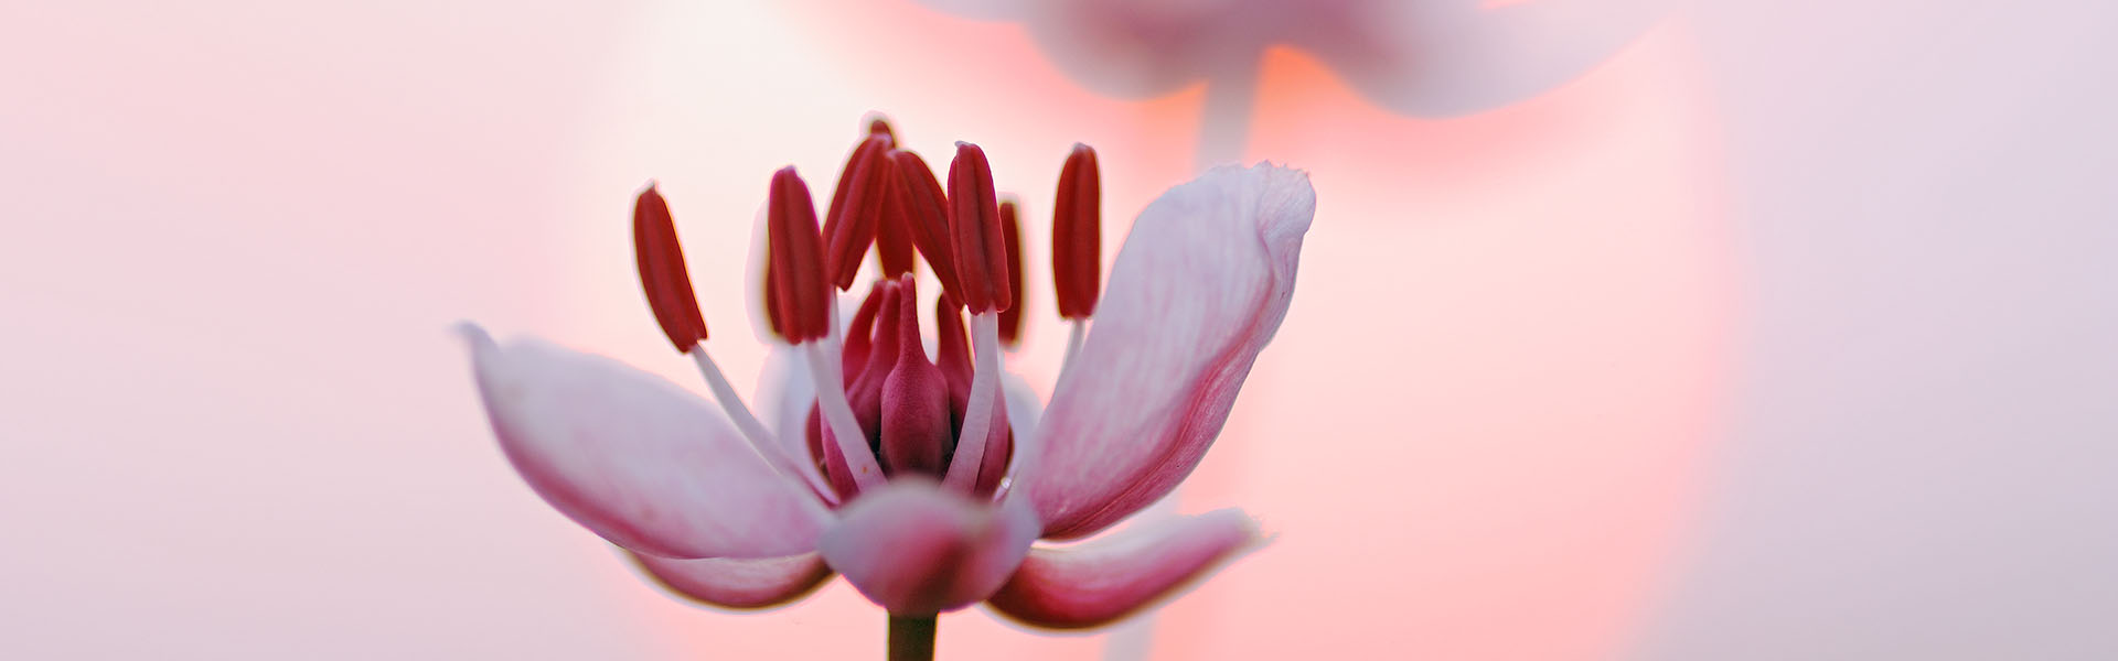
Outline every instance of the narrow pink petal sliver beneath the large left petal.
[[754, 559], [629, 555], [663, 589], [716, 608], [754, 610], [784, 606], [830, 580], [830, 568], [824, 566], [824, 557], [818, 553]]

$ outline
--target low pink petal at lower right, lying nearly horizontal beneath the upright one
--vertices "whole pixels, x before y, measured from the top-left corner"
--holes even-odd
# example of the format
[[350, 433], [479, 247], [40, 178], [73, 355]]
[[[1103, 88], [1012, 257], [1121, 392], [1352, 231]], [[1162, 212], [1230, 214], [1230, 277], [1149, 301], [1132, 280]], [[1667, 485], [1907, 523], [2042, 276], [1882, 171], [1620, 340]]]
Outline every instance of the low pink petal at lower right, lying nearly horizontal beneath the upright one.
[[1031, 627], [1101, 627], [1175, 595], [1256, 547], [1258, 528], [1250, 517], [1214, 511], [1080, 547], [1029, 549], [987, 606]]

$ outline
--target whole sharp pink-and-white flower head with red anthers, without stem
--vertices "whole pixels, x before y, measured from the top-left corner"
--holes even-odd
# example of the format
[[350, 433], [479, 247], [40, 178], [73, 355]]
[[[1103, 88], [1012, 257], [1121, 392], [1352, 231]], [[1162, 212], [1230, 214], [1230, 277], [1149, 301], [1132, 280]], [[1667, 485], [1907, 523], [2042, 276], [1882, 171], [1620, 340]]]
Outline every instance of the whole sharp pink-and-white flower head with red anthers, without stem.
[[[1000, 345], [1019, 324], [1002, 311], [1019, 301], [1021, 250], [985, 153], [957, 142], [945, 191], [881, 121], [822, 231], [794, 167], [771, 180], [765, 314], [807, 371], [760, 396], [792, 415], [769, 428], [714, 367], [654, 186], [633, 214], [642, 284], [716, 403], [610, 358], [466, 326], [485, 411], [538, 496], [705, 604], [788, 604], [843, 574], [892, 617], [987, 602], [1036, 627], [1118, 621], [1254, 549], [1252, 519], [1216, 511], [1038, 540], [1103, 532], [1199, 464], [1286, 316], [1315, 193], [1303, 172], [1264, 163], [1175, 186], [1139, 214], [1101, 294], [1095, 150], [1074, 148], [1057, 199], [1055, 299], [1074, 333], [1042, 411], [1025, 388], [1002, 388], [1015, 379]], [[868, 246], [881, 278], [839, 324], [834, 297]], [[943, 284], [934, 360], [913, 254]]]

